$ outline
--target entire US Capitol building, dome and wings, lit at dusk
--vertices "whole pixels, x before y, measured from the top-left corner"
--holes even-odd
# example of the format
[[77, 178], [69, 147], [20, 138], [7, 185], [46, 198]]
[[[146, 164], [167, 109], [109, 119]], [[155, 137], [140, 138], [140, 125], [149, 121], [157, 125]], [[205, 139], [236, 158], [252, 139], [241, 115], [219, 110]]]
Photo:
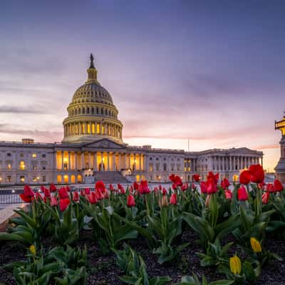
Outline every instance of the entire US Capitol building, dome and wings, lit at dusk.
[[193, 174], [205, 179], [209, 171], [237, 181], [240, 170], [262, 164], [263, 153], [246, 147], [186, 152], [126, 144], [118, 109], [98, 82], [92, 54], [87, 73], [68, 105], [62, 142], [0, 142], [1, 185], [168, 182], [172, 173], [192, 181]]

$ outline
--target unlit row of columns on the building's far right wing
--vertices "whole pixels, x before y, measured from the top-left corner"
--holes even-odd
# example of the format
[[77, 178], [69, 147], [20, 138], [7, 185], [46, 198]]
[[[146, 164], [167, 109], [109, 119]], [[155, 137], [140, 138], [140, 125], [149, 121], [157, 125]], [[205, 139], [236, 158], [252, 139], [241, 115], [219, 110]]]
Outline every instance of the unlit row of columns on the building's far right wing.
[[[213, 170], [243, 170], [250, 165], [256, 165], [260, 163], [260, 157], [249, 156], [215, 156], [212, 157], [212, 169]], [[263, 159], [261, 157], [261, 165], [263, 165]]]

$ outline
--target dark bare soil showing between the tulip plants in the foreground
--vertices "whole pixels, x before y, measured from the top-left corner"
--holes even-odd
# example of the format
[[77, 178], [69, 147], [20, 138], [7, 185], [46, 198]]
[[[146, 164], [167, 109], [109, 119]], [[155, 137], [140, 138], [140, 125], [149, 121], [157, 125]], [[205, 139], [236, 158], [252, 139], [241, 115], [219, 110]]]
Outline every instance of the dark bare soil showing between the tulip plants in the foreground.
[[[202, 252], [201, 247], [195, 242], [197, 240], [197, 234], [186, 231], [181, 243], [190, 242], [190, 245], [183, 250], [179, 255], [179, 258], [170, 261], [169, 264], [160, 265], [157, 262], [157, 256], [152, 254], [148, 249], [144, 239], [136, 239], [129, 242], [131, 247], [135, 249], [147, 265], [147, 273], [150, 276], [165, 276], [169, 275], [172, 278], [170, 284], [180, 281], [184, 275], [192, 275], [192, 273], [198, 276], [206, 276], [207, 281], [215, 281], [217, 279], [224, 279], [224, 276], [215, 274], [214, 268], [202, 267], [199, 264], [199, 257], [196, 252]], [[229, 237], [229, 240], [231, 238]], [[103, 255], [100, 252], [98, 244], [94, 242], [91, 232], [83, 232], [81, 240], [78, 245], [83, 247], [86, 244], [88, 247], [88, 281], [90, 285], [123, 285], [118, 279], [118, 276], [123, 275], [120, 269], [115, 264], [115, 254], [110, 252]], [[51, 239], [46, 239], [43, 242], [43, 246], [54, 246]], [[279, 254], [279, 256], [285, 259], [285, 245], [284, 240], [277, 237], [267, 237], [264, 244], [266, 249], [271, 252]], [[6, 242], [0, 245], [0, 266], [7, 264], [11, 261], [19, 261], [25, 258], [26, 249], [22, 244], [16, 242]], [[283, 261], [271, 261], [262, 269], [262, 273], [259, 276], [259, 280], [255, 285], [285, 285], [285, 264]], [[0, 285], [14, 285], [13, 275], [2, 268], [0, 268]]]

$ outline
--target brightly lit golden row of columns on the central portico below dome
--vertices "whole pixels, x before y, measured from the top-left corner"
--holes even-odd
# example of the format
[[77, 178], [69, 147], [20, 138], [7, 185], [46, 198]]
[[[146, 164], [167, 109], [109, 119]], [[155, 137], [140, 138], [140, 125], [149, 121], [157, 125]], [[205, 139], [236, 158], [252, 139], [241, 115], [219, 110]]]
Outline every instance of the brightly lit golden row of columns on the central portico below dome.
[[56, 154], [57, 170], [132, 171], [145, 170], [145, 155], [116, 152], [70, 152]]

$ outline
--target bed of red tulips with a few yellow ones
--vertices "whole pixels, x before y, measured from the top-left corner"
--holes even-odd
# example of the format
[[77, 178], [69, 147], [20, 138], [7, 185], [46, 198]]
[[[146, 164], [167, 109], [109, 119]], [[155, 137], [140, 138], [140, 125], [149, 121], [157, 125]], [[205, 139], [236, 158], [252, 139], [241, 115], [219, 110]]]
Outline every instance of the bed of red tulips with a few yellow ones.
[[171, 190], [153, 192], [146, 181], [126, 190], [97, 182], [81, 193], [51, 185], [43, 195], [25, 186], [30, 209], [16, 211], [14, 227], [0, 234], [0, 281], [285, 284], [277, 274], [285, 256], [278, 180], [265, 186], [260, 165], [242, 172], [232, 192], [212, 172], [199, 182], [201, 192], [176, 175], [170, 180]]

